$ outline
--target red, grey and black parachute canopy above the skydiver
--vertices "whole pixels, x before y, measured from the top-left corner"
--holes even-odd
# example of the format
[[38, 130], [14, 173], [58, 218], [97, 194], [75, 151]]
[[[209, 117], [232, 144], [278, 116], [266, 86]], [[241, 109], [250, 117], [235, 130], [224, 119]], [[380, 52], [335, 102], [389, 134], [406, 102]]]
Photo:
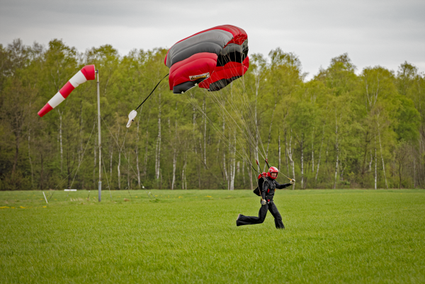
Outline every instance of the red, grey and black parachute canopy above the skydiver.
[[248, 35], [237, 26], [218, 25], [177, 42], [164, 63], [170, 69], [173, 93], [184, 93], [197, 84], [218, 91], [248, 70]]

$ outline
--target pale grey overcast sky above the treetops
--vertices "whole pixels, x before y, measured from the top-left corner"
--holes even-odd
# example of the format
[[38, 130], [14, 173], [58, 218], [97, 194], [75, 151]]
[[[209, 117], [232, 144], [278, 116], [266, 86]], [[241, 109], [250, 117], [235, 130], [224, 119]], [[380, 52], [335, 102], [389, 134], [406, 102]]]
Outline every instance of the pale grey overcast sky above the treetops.
[[348, 52], [358, 72], [404, 61], [425, 72], [425, 1], [59, 1], [0, 0], [0, 43], [21, 38], [47, 45], [60, 38], [81, 52], [111, 44], [132, 49], [171, 47], [215, 25], [248, 33], [249, 53], [280, 47], [300, 57], [311, 78]]

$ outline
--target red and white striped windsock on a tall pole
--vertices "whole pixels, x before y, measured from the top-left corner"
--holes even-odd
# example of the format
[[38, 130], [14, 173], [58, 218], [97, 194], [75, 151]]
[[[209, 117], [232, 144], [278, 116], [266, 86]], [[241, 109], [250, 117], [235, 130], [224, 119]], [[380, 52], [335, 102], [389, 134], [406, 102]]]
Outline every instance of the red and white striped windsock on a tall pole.
[[74, 91], [77, 86], [83, 84], [88, 80], [94, 80], [96, 77], [96, 70], [94, 69], [94, 65], [86, 65], [84, 66], [77, 74], [75, 74], [67, 84], [60, 89], [53, 98], [50, 98], [50, 101], [46, 103], [45, 106], [38, 112], [40, 118], [48, 113], [53, 108], [56, 108], [62, 101], [69, 96], [69, 93]]

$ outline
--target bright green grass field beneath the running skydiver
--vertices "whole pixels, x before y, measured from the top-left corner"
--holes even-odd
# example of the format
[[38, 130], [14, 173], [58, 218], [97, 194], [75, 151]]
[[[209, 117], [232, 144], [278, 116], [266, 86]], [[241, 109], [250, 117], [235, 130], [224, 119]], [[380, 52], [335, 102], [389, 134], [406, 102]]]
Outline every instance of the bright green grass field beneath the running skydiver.
[[0, 283], [425, 283], [424, 190], [111, 193], [0, 192]]

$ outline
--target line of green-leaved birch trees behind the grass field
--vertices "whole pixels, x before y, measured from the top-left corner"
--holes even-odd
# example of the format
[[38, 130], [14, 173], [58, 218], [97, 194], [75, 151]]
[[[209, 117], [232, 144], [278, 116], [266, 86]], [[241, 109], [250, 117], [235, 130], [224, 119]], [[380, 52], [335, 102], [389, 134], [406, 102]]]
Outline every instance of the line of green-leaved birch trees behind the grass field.
[[166, 51], [0, 45], [1, 190], [97, 188], [96, 82], [37, 115], [86, 64], [100, 75], [103, 188], [252, 188], [257, 174], [238, 153], [255, 165], [261, 149], [297, 189], [424, 188], [425, 80], [414, 65], [356, 74], [344, 54], [307, 81], [298, 57], [277, 48], [249, 55], [246, 76], [220, 95], [244, 103], [251, 141], [225, 119], [229, 104], [199, 88], [174, 95], [166, 82], [126, 128], [130, 110], [169, 72]]

